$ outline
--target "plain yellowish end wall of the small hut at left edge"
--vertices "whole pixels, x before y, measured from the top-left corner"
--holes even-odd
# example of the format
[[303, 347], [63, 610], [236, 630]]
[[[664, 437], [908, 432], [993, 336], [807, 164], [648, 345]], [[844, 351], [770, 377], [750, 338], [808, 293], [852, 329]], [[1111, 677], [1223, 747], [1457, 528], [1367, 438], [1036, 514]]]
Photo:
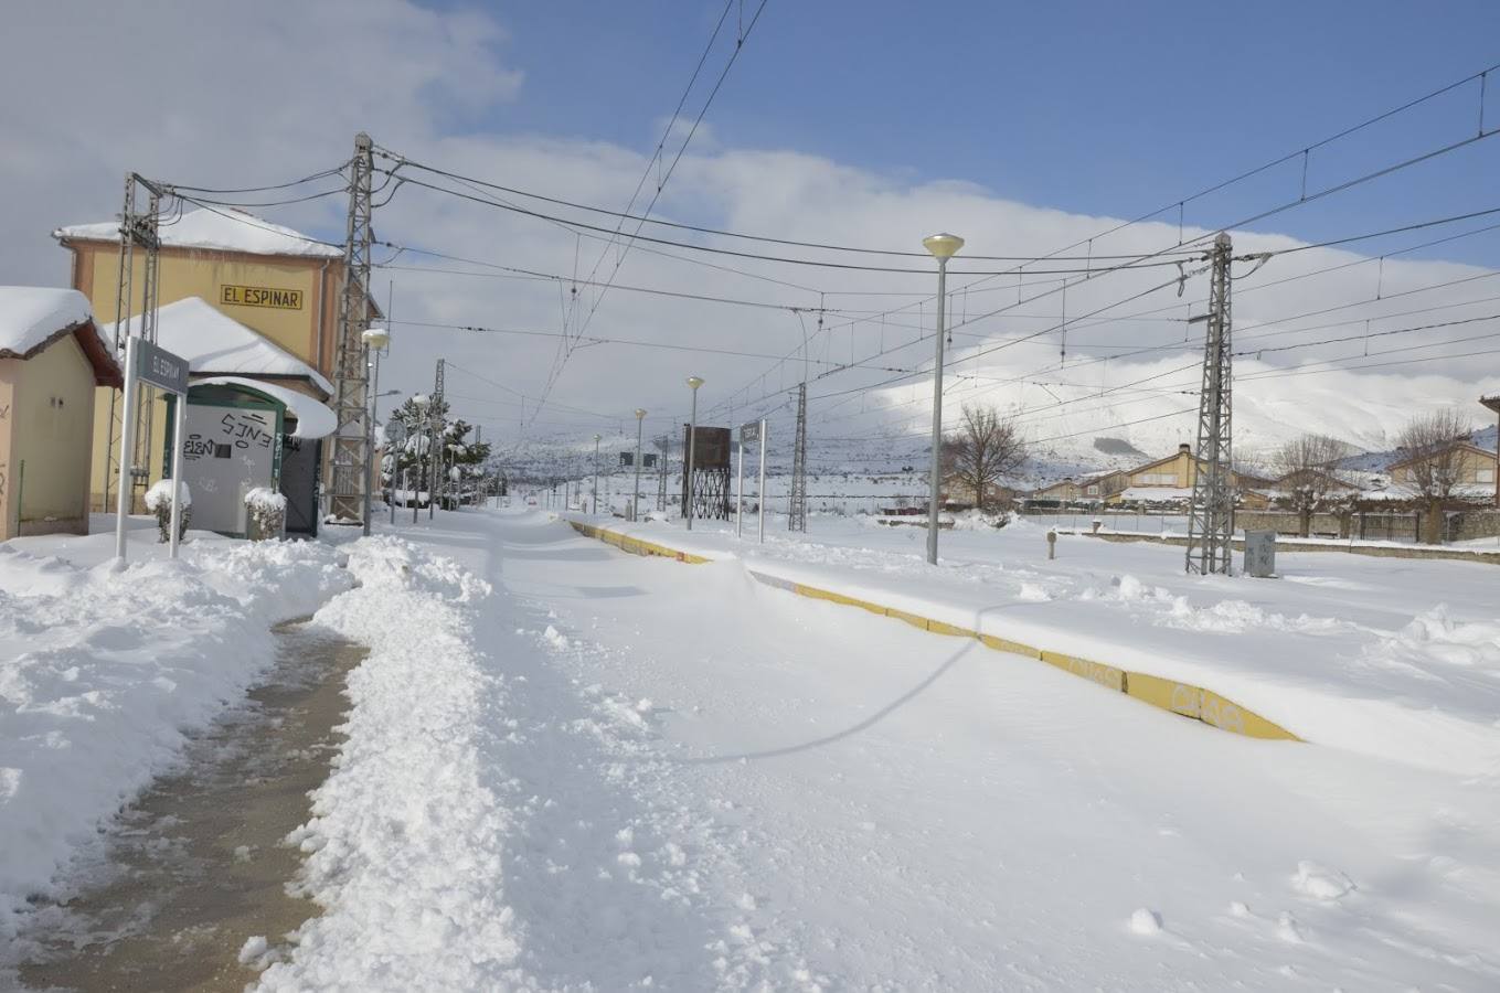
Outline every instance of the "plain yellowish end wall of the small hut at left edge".
[[10, 387], [4, 536], [15, 528], [18, 494], [21, 534], [87, 534], [93, 366], [70, 334], [0, 366]]

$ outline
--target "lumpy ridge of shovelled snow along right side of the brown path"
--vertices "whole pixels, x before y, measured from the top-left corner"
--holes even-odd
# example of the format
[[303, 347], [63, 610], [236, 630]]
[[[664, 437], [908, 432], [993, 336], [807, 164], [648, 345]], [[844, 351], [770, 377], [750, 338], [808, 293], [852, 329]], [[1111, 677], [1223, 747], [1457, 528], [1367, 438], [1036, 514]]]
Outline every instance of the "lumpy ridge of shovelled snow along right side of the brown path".
[[486, 786], [488, 746], [514, 734], [486, 720], [507, 699], [476, 646], [489, 584], [399, 538], [346, 548], [360, 586], [314, 620], [370, 654], [350, 675], [338, 765], [290, 838], [327, 912], [261, 988], [526, 987], [504, 902], [514, 814]]

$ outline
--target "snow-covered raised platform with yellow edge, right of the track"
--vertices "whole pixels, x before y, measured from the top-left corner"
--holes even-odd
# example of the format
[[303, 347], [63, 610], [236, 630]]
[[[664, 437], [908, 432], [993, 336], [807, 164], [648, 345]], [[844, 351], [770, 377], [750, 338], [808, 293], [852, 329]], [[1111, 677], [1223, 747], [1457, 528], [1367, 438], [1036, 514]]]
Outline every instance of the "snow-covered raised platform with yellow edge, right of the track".
[[[722, 522], [570, 514], [614, 544], [741, 560], [762, 580], [980, 638], [1136, 699], [1263, 738], [1300, 738], [1466, 774], [1500, 768], [1500, 624], [1486, 564], [1298, 554], [1280, 579], [1190, 578], [1180, 550], [1059, 537], [1024, 522], [944, 536], [818, 519], [765, 544]], [[1420, 592], [1416, 592], [1420, 591]]]

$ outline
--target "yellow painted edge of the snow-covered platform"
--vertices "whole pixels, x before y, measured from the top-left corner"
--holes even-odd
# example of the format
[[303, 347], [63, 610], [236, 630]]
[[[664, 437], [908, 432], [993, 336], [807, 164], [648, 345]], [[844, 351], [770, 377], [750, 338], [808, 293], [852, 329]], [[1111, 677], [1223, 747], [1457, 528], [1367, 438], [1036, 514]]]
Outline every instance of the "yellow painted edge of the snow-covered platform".
[[[690, 552], [678, 552], [676, 549], [666, 548], [664, 544], [656, 544], [642, 538], [634, 538], [628, 536], [618, 534], [616, 531], [609, 531], [606, 528], [598, 528], [594, 525], [582, 524], [578, 520], [568, 520], [574, 531], [585, 537], [598, 538], [609, 544], [620, 548], [624, 552], [633, 552], [636, 555], [658, 555], [662, 558], [674, 558], [680, 562], [708, 562], [711, 560], [702, 555], [693, 555]], [[750, 573], [760, 579], [753, 570]], [[764, 580], [762, 580], [764, 582]], [[1068, 672], [1076, 676], [1082, 676], [1089, 682], [1095, 682], [1116, 693], [1124, 693], [1131, 699], [1140, 700], [1142, 704], [1149, 704], [1158, 710], [1164, 710], [1170, 714], [1179, 714], [1182, 717], [1191, 717], [1192, 720], [1200, 720], [1204, 724], [1218, 728], [1220, 730], [1227, 730], [1236, 735], [1245, 735], [1246, 738], [1262, 738], [1266, 741], [1302, 741], [1294, 734], [1286, 728], [1270, 722], [1260, 714], [1246, 710], [1230, 700], [1228, 698], [1220, 696], [1212, 690], [1204, 690], [1203, 687], [1192, 686], [1190, 682], [1178, 682], [1176, 680], [1167, 680], [1162, 676], [1154, 676], [1144, 672], [1132, 672], [1130, 669], [1118, 669], [1114, 666], [1104, 664], [1102, 662], [1094, 662], [1090, 658], [1080, 658], [1078, 656], [1070, 656], [1066, 652], [1050, 651], [1046, 648], [1036, 648], [1024, 642], [1011, 640], [1008, 638], [999, 638], [996, 634], [981, 634], [972, 632], [966, 627], [957, 627], [945, 621], [934, 621], [933, 618], [921, 616], [920, 614], [910, 614], [908, 610], [898, 610], [896, 608], [880, 606], [870, 600], [860, 600], [858, 597], [848, 597], [842, 592], [832, 592], [831, 590], [820, 590], [818, 586], [808, 586], [806, 584], [777, 584], [778, 586], [795, 592], [801, 597], [808, 597], [812, 600], [828, 600], [831, 603], [838, 603], [842, 606], [860, 608], [861, 610], [868, 610], [870, 614], [879, 614], [882, 616], [890, 616], [897, 621], [904, 621], [914, 627], [920, 627], [924, 632], [933, 634], [950, 634], [954, 638], [972, 638], [981, 642], [986, 648], [993, 651], [1006, 652], [1012, 656], [1024, 656], [1028, 658], [1036, 658], [1046, 662], [1047, 664]]]

